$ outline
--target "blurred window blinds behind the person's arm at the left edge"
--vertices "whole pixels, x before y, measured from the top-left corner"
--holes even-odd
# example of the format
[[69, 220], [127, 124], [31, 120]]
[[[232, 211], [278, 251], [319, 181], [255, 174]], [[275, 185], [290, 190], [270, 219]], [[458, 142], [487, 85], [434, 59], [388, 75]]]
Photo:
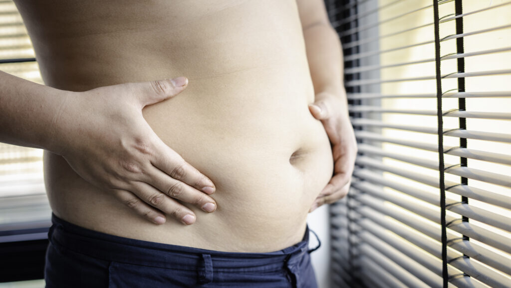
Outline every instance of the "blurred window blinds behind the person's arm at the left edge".
[[[32, 43], [12, 0], [0, 0], [0, 70], [42, 84]], [[0, 242], [46, 238], [50, 216], [42, 150], [0, 143]]]

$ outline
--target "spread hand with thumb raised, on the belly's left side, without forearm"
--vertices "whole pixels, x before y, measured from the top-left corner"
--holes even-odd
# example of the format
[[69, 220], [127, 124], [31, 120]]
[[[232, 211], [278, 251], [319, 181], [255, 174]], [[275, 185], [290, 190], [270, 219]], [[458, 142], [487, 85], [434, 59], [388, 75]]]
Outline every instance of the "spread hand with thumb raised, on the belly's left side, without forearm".
[[187, 84], [179, 77], [71, 92], [54, 119], [55, 152], [83, 179], [153, 223], [165, 223], [169, 214], [193, 224], [195, 214], [180, 202], [213, 212], [208, 194], [215, 186], [163, 143], [142, 115], [144, 106], [176, 96]]

